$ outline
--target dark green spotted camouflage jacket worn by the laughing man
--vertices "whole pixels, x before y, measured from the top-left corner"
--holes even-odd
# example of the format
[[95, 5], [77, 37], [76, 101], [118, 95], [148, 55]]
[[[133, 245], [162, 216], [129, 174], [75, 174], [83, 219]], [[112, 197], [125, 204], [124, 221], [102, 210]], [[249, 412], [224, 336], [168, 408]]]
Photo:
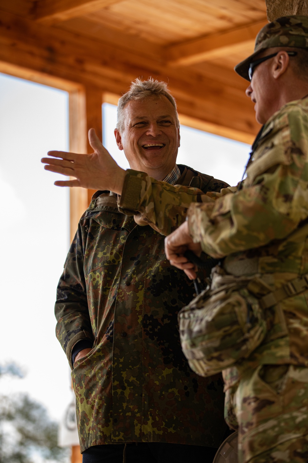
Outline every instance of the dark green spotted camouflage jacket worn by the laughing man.
[[[180, 169], [180, 183], [204, 192], [226, 185]], [[163, 236], [121, 213], [115, 194], [94, 194], [55, 305], [56, 334], [70, 363], [74, 344], [93, 342], [72, 370], [81, 451], [123, 442], [219, 446], [226, 430], [222, 378], [196, 375], [181, 351], [177, 313], [193, 293], [169, 266]]]

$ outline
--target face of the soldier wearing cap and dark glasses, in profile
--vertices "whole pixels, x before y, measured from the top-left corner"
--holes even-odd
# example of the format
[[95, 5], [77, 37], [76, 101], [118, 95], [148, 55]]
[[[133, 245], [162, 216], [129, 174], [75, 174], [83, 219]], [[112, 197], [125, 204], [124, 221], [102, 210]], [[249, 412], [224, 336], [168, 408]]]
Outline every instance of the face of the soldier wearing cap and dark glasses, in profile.
[[[270, 54], [270, 51], [264, 56]], [[263, 56], [263, 55], [262, 55]], [[258, 56], [259, 58], [260, 56]], [[257, 58], [256, 58], [257, 59]], [[273, 58], [260, 63], [254, 70], [246, 95], [255, 103], [254, 110], [259, 124], [265, 124], [276, 109], [276, 88], [273, 86], [271, 65]]]

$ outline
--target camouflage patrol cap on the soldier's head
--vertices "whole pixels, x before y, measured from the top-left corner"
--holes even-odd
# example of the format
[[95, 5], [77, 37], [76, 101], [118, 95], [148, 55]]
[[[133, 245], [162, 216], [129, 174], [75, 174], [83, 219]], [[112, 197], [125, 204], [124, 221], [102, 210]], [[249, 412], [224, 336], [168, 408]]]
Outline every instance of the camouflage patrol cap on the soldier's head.
[[261, 50], [272, 47], [308, 48], [308, 16], [283, 16], [266, 24], [257, 35], [254, 53], [237, 64], [234, 70], [249, 81], [250, 63]]

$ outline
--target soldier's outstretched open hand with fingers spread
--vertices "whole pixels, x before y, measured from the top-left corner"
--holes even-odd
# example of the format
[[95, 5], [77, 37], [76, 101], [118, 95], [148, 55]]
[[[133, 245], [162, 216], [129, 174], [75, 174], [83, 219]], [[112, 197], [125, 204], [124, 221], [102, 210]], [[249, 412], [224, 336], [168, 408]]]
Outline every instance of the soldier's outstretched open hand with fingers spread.
[[94, 190], [109, 190], [121, 194], [125, 170], [103, 147], [94, 129], [88, 133], [89, 143], [94, 152], [91, 154], [66, 153], [65, 151], [48, 151], [48, 156], [41, 162], [47, 164], [44, 169], [58, 174], [76, 177], [75, 180], [58, 180], [58, 187], [84, 187]]

